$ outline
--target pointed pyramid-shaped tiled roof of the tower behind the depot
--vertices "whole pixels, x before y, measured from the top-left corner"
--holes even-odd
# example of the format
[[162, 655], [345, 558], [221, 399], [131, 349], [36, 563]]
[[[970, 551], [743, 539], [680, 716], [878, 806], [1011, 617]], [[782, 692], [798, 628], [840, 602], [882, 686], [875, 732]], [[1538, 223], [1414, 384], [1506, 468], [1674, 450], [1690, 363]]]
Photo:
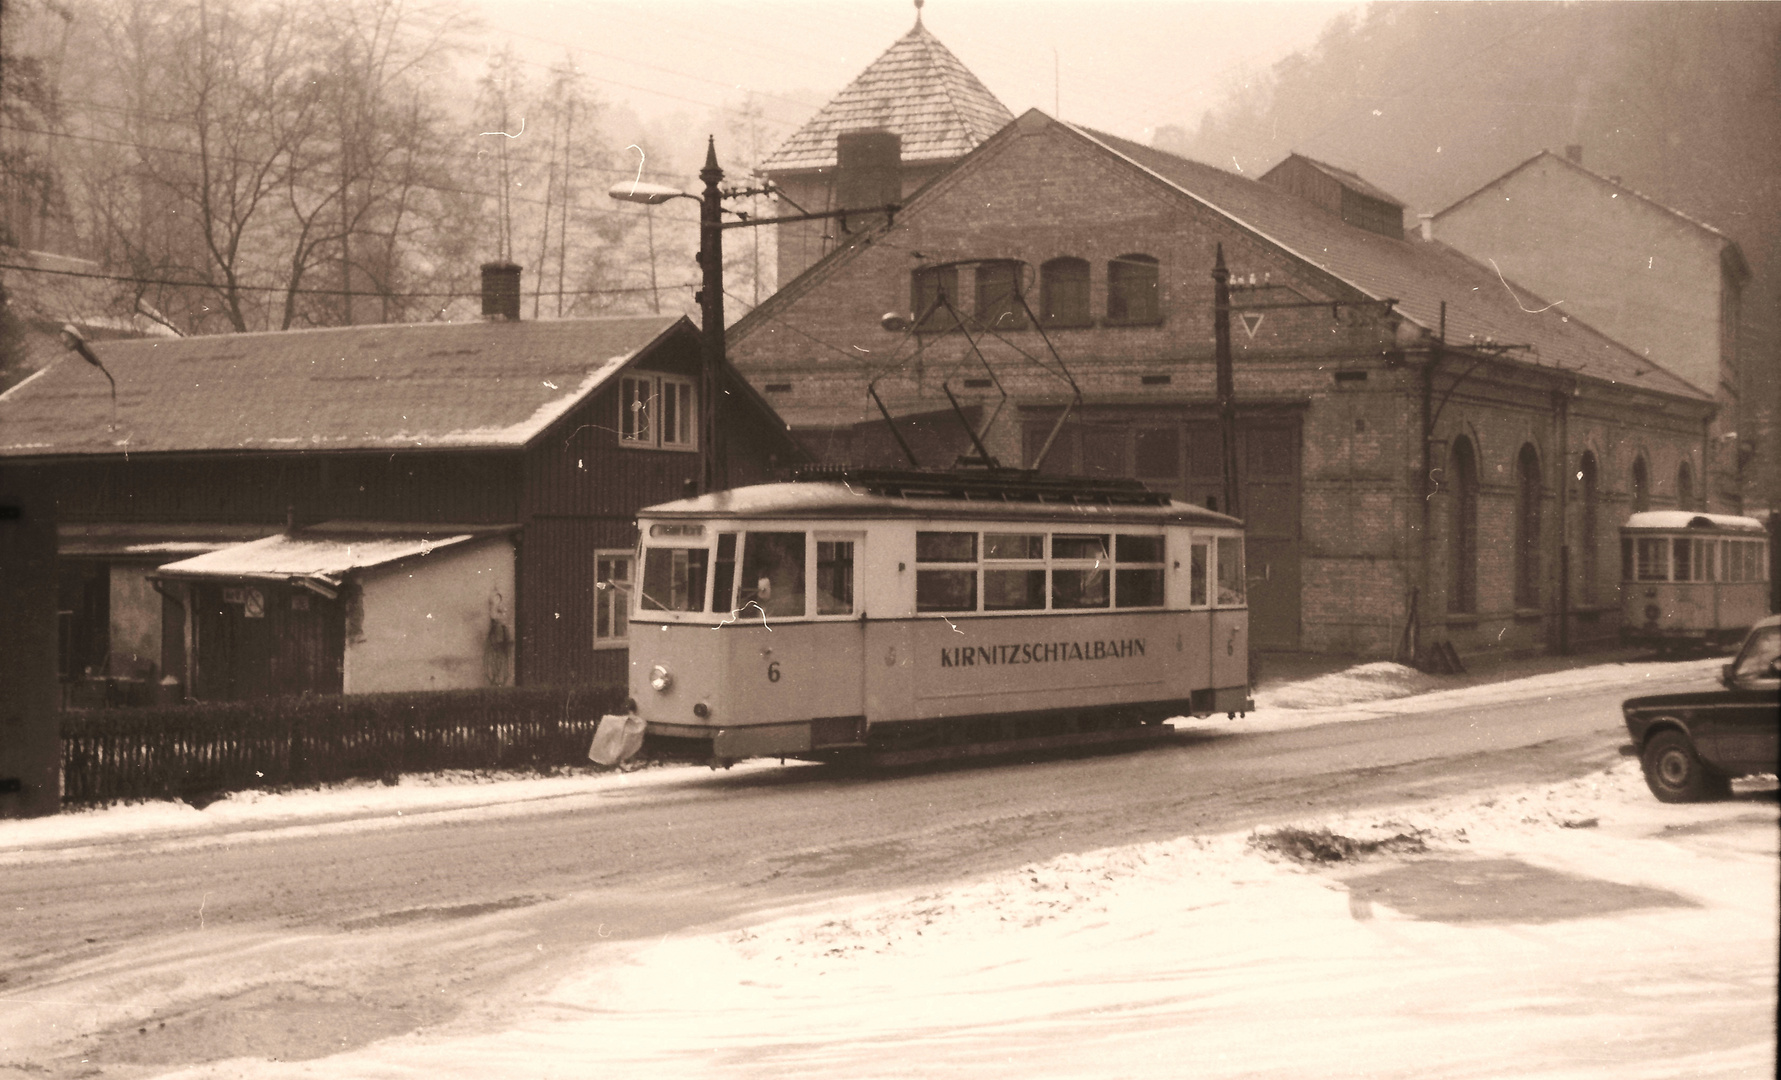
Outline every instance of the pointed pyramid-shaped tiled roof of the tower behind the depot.
[[921, 21], [871, 62], [764, 162], [760, 173], [835, 164], [842, 132], [885, 128], [903, 160], [953, 160], [999, 132], [1013, 114]]

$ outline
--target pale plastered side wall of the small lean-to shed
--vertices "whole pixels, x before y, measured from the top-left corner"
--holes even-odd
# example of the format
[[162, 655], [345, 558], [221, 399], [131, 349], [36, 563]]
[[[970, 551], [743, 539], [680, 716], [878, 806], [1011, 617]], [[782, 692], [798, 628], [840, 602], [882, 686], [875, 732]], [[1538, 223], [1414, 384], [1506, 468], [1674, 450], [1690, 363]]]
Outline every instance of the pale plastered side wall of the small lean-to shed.
[[[433, 551], [356, 583], [362, 617], [347, 626], [344, 693], [513, 684], [509, 538]], [[506, 627], [504, 663], [492, 663], [490, 622]]]

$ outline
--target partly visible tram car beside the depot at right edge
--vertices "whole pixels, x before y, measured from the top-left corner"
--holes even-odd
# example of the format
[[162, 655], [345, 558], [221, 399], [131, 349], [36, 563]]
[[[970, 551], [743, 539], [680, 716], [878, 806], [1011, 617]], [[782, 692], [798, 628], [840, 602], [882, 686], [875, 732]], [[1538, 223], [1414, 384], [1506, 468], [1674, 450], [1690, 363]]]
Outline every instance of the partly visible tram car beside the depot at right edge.
[[1769, 533], [1753, 517], [1651, 510], [1621, 526], [1621, 638], [1722, 647], [1769, 615]]

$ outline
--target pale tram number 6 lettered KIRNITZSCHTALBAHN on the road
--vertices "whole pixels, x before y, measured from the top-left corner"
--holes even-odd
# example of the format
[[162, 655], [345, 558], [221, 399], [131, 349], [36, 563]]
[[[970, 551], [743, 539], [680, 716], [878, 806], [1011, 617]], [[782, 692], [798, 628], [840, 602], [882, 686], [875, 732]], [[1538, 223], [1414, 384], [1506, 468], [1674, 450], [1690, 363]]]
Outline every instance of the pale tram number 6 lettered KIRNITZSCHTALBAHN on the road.
[[630, 695], [714, 763], [880, 763], [1245, 713], [1236, 519], [1136, 481], [830, 470], [650, 506]]

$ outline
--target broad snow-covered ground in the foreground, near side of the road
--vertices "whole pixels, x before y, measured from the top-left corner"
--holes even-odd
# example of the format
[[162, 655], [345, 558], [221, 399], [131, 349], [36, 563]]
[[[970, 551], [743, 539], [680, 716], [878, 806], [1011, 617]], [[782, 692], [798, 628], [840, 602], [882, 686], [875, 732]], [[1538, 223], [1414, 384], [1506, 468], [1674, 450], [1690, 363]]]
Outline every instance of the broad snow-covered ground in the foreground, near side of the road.
[[602, 950], [481, 1032], [176, 1075], [1774, 1075], [1772, 798], [1662, 806], [1621, 761], [1302, 825], [1425, 850], [1065, 855]]

